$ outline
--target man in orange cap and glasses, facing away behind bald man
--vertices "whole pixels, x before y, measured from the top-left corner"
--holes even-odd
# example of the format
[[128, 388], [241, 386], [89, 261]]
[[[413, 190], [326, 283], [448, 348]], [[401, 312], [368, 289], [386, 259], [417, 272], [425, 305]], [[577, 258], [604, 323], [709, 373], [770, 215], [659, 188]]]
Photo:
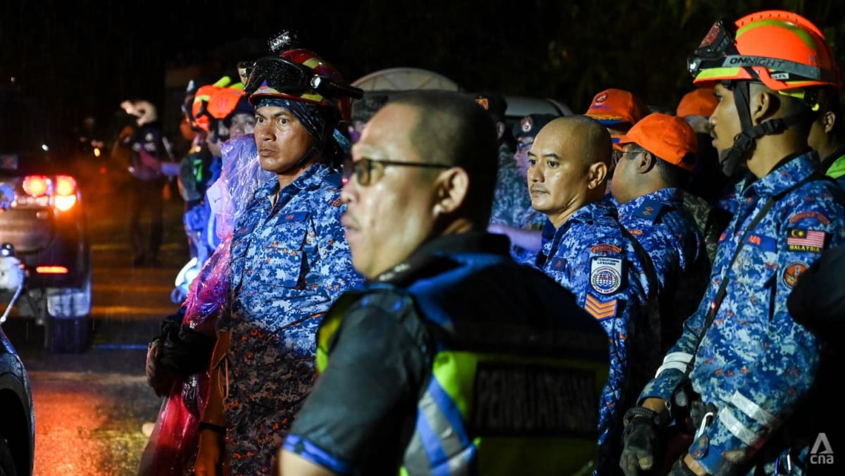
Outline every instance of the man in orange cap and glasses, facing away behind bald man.
[[695, 131], [682, 118], [654, 113], [619, 139], [613, 172], [619, 222], [648, 251], [659, 289], [661, 351], [681, 335], [707, 286], [710, 260], [680, 187], [695, 167]]

